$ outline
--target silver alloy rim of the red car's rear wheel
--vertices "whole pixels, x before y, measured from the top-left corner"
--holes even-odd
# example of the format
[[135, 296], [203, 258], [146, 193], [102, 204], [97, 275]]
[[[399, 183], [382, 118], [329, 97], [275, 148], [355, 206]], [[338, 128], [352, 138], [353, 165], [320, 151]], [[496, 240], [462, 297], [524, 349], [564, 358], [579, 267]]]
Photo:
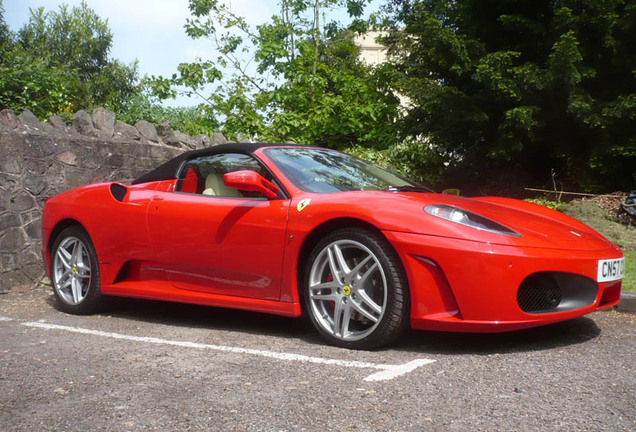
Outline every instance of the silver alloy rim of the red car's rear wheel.
[[77, 237], [66, 237], [55, 251], [53, 283], [60, 299], [69, 305], [81, 303], [91, 283], [90, 257]]

